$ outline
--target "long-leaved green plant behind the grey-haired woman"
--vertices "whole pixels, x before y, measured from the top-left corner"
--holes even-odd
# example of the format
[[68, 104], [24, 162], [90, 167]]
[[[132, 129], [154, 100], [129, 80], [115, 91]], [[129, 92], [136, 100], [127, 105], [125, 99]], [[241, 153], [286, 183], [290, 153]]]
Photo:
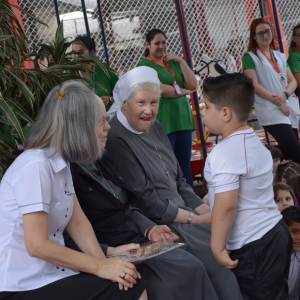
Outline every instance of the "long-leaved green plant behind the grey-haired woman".
[[[19, 145], [24, 142], [22, 128], [27, 123], [33, 124], [53, 87], [66, 80], [81, 79], [80, 71], [87, 72], [92, 81], [93, 71], [86, 67], [91, 63], [100, 67], [108, 76], [108, 70], [114, 71], [92, 54], [82, 56], [82, 53], [68, 51], [72, 44], [82, 43], [64, 38], [63, 22], [56, 31], [54, 41], [40, 45], [48, 50], [45, 56], [49, 67], [45, 70], [22, 68], [24, 62], [33, 60], [40, 54], [30, 52], [27, 37], [12, 6], [14, 5], [0, 0], [0, 181], [3, 170], [20, 154], [16, 142]], [[14, 7], [47, 26], [20, 7]], [[77, 58], [72, 58], [72, 54], [77, 54]], [[97, 82], [95, 84], [99, 85]], [[12, 127], [13, 133], [10, 129]], [[7, 129], [13, 136], [7, 134]]]

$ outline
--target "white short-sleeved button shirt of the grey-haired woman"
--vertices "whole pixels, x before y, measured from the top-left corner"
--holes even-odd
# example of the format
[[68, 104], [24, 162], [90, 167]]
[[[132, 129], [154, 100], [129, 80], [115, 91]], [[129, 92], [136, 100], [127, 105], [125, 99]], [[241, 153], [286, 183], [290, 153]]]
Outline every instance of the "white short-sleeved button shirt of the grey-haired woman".
[[25, 247], [23, 214], [45, 211], [49, 239], [64, 246], [63, 231], [73, 212], [70, 169], [56, 153], [27, 150], [5, 173], [0, 185], [0, 292], [37, 289], [78, 274], [31, 257]]

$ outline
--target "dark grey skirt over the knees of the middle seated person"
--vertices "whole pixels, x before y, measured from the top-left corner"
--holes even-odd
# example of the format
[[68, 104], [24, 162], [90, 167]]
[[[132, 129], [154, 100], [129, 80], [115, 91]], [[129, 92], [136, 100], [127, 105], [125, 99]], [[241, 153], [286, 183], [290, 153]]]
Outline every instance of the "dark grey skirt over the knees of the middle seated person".
[[201, 261], [180, 249], [170, 254], [137, 265], [149, 300], [219, 300]]

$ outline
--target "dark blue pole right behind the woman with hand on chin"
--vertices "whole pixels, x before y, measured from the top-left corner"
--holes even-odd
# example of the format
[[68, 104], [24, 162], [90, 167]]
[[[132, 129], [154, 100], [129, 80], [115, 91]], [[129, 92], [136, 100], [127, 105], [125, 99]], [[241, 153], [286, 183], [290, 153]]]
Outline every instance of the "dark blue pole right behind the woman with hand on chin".
[[[183, 42], [183, 48], [184, 48], [185, 53], [186, 53], [187, 64], [191, 68], [191, 70], [193, 70], [192, 55], [191, 55], [191, 50], [190, 50], [190, 47], [189, 47], [189, 40], [188, 40], [187, 28], [186, 28], [186, 24], [185, 24], [183, 5], [181, 6], [182, 2], [180, 0], [174, 0], [174, 1], [175, 1], [176, 10], [177, 10], [178, 20], [179, 20], [179, 27], [180, 27], [181, 33], [182, 33], [181, 37], [182, 37], [182, 42]], [[200, 116], [197, 92], [193, 93], [193, 98], [194, 98], [194, 103], [195, 103], [195, 110], [196, 110], [196, 115], [197, 115], [198, 128], [199, 128], [199, 131], [200, 131], [200, 138], [201, 138], [203, 156], [204, 156], [204, 158], [206, 158], [207, 157], [206, 144], [205, 144], [205, 138], [204, 138], [204, 133], [203, 133], [203, 127], [202, 127], [202, 119], [201, 119], [201, 116]]]

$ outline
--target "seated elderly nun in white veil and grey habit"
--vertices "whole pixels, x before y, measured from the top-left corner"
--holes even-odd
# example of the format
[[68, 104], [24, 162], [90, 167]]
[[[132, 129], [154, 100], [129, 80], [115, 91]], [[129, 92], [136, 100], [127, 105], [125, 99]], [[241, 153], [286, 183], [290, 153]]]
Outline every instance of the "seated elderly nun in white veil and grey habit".
[[206, 267], [219, 299], [242, 299], [234, 274], [210, 249], [210, 209], [182, 176], [162, 124], [156, 120], [160, 86], [152, 68], [137, 67], [118, 81], [103, 162], [111, 159], [138, 197], [146, 217], [176, 233]]

